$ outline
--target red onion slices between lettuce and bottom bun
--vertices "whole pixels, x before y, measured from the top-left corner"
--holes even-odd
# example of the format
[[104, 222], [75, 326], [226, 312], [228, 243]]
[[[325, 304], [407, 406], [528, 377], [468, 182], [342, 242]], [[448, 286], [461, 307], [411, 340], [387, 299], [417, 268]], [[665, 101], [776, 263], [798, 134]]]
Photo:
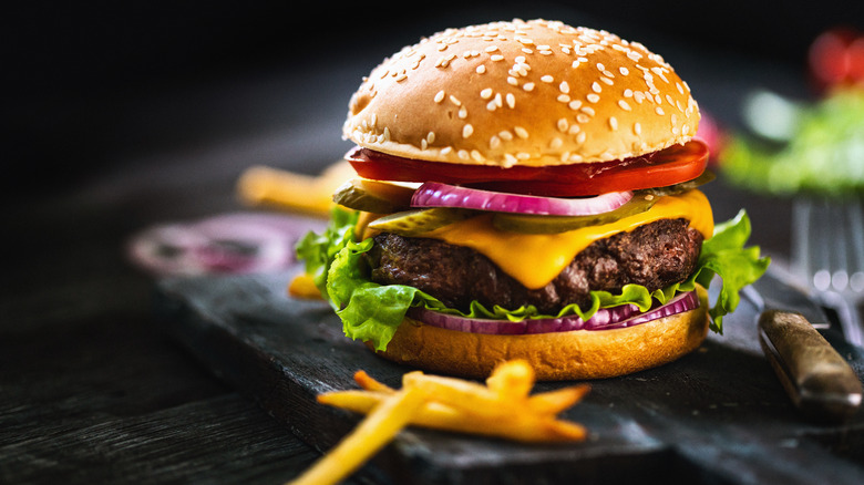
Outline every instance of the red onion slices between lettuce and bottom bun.
[[574, 330], [620, 329], [647, 323], [664, 317], [671, 317], [696, 308], [699, 308], [699, 297], [696, 295], [696, 291], [688, 291], [677, 295], [666, 305], [658, 306], [646, 312], [639, 312], [639, 308], [635, 305], [601, 308], [587, 321], [578, 316], [521, 321], [492, 320], [441, 313], [420, 307], [409, 310], [409, 317], [425, 324], [448, 330], [497, 336], [522, 336], [569, 332]]

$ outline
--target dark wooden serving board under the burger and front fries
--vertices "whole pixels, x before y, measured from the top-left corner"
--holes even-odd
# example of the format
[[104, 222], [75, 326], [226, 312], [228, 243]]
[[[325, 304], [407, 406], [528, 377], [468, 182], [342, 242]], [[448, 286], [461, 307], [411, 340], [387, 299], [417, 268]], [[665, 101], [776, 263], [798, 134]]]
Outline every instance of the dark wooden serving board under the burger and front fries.
[[[163, 281], [157, 308], [216, 375], [325, 452], [360, 417], [317, 404], [316, 394], [356, 389], [360, 369], [398, 388], [411, 369], [347, 339], [326, 303], [287, 297], [290, 278]], [[409, 429], [361, 473], [384, 484], [864, 483], [864, 412], [845, 425], [805, 421], [759, 348], [755, 317], [742, 299], [724, 334], [709, 336], [690, 355], [592, 381], [592, 392], [563, 414], [587, 426], [584, 443], [524, 445]], [[862, 349], [826, 337], [864, 375]]]

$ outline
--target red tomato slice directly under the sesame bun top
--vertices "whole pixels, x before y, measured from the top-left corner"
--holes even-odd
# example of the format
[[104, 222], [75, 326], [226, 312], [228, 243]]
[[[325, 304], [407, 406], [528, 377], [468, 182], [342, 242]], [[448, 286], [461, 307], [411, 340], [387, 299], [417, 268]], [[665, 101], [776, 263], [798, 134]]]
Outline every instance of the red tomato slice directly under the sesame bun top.
[[580, 197], [691, 180], [708, 165], [708, 145], [691, 140], [683, 145], [621, 161], [545, 167], [502, 168], [426, 162], [362, 147], [349, 152], [346, 159], [358, 175], [376, 180], [441, 182], [513, 194]]

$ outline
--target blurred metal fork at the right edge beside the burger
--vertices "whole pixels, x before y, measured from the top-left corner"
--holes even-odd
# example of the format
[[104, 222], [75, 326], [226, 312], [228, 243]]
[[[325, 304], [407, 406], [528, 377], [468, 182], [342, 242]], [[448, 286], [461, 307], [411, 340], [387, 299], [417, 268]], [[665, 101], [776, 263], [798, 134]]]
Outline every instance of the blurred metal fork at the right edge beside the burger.
[[802, 199], [792, 211], [791, 269], [856, 345], [864, 342], [862, 205], [860, 199]]

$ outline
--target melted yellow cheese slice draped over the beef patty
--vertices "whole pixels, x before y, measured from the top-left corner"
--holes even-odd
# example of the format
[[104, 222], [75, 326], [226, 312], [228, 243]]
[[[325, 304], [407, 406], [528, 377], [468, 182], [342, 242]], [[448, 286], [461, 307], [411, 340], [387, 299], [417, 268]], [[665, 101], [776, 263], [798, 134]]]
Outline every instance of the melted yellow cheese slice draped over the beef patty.
[[665, 196], [645, 213], [625, 217], [600, 226], [584, 227], [560, 234], [522, 234], [496, 229], [492, 215], [483, 215], [454, 223], [418, 237], [440, 239], [456, 246], [470, 247], [497, 265], [526, 288], [543, 288], [592, 242], [629, 231], [658, 219], [685, 218], [710, 238], [713, 215], [708, 198], [700, 190]]

